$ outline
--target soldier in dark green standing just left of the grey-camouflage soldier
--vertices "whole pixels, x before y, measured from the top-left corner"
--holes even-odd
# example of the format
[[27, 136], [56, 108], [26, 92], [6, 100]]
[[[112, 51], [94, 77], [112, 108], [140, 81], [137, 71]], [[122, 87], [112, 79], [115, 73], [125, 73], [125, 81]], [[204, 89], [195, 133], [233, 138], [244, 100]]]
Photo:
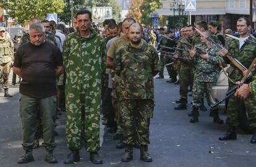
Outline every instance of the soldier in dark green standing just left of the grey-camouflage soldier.
[[[186, 36], [181, 39], [182, 43], [192, 44], [192, 40], [195, 35], [195, 28], [192, 25], [186, 27]], [[177, 47], [181, 49], [191, 49], [188, 46], [184, 46], [181, 43], [178, 43]], [[189, 52], [187, 51], [177, 51], [177, 57], [187, 57], [189, 58]], [[175, 56], [175, 57], [176, 57]], [[180, 99], [176, 101], [176, 103], [180, 103], [177, 107], [174, 107], [174, 110], [184, 110], [187, 109], [187, 94], [190, 88], [193, 88], [193, 80], [194, 80], [194, 65], [190, 61], [181, 60], [180, 62], [181, 68], [179, 70], [179, 94]]]

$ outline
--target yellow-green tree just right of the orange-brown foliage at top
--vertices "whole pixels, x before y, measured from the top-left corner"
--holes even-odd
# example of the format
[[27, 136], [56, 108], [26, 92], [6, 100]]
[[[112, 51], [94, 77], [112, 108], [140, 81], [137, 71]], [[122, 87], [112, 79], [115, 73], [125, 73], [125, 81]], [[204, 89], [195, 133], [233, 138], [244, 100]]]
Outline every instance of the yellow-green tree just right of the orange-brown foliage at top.
[[151, 25], [152, 20], [148, 16], [156, 9], [160, 9], [161, 6], [160, 0], [144, 0], [140, 6], [140, 10], [142, 11], [142, 23]]

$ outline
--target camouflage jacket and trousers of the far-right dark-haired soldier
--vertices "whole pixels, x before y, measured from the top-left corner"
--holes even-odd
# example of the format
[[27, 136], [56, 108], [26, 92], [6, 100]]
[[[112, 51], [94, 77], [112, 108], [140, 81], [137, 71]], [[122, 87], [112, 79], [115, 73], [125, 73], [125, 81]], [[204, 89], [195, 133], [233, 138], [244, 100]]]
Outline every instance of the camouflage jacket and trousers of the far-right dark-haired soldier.
[[[252, 41], [256, 41], [256, 39], [252, 36], [249, 36], [249, 39]], [[255, 44], [245, 43], [241, 49], [239, 49], [239, 41], [236, 39], [231, 39], [229, 44], [226, 46], [229, 53], [236, 57], [239, 62], [241, 62], [246, 68], [249, 68], [250, 63], [255, 58], [256, 55], [256, 46]], [[234, 81], [241, 81], [242, 72], [238, 70], [232, 63], [231, 68], [228, 69], [229, 77]], [[252, 70], [252, 74], [255, 76], [255, 68]], [[254, 82], [250, 83], [250, 88], [254, 88]], [[234, 84], [229, 81], [229, 89], [232, 89]], [[254, 99], [254, 91], [252, 91], [252, 95], [247, 97], [247, 99], [242, 100], [238, 99], [235, 96], [231, 96], [228, 101], [227, 108], [227, 120], [226, 122], [229, 125], [237, 126], [238, 123], [238, 111], [245, 110], [247, 112], [247, 118], [249, 121], [249, 125], [253, 128], [256, 128], [256, 104]]]

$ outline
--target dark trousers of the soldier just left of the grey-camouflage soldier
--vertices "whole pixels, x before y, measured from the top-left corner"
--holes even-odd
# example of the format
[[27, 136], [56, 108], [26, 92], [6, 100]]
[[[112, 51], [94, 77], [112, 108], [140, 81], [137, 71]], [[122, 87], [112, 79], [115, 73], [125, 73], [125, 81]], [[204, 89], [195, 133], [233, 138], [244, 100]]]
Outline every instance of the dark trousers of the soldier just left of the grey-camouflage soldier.
[[190, 88], [193, 88], [194, 81], [194, 68], [186, 67], [185, 65], [181, 64], [181, 68], [179, 70], [179, 94], [182, 99], [187, 99], [187, 94], [189, 92], [188, 88], [189, 86]]

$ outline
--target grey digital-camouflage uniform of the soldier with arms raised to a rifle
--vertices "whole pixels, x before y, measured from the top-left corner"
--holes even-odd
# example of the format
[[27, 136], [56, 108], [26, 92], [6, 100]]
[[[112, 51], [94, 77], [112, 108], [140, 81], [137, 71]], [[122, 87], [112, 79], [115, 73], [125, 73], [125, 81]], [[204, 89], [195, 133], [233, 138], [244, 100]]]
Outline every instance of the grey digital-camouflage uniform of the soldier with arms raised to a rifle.
[[205, 44], [198, 44], [196, 47], [202, 51], [208, 52], [208, 59], [202, 59], [198, 53], [195, 54], [192, 62], [195, 64], [195, 75], [193, 85], [193, 107], [200, 107], [202, 105], [202, 97], [206, 94], [208, 104], [210, 104], [211, 88], [215, 86], [218, 74], [220, 72], [220, 62], [223, 59], [216, 53], [218, 48], [210, 44], [210, 47]]

